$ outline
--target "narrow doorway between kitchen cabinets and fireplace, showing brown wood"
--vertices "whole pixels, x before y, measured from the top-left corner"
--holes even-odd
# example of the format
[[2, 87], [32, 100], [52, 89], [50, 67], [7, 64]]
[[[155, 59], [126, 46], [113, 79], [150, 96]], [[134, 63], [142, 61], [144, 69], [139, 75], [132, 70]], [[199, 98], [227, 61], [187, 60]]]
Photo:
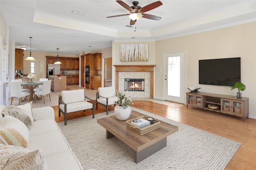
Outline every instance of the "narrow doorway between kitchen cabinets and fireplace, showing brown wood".
[[104, 87], [112, 86], [112, 57], [104, 59]]

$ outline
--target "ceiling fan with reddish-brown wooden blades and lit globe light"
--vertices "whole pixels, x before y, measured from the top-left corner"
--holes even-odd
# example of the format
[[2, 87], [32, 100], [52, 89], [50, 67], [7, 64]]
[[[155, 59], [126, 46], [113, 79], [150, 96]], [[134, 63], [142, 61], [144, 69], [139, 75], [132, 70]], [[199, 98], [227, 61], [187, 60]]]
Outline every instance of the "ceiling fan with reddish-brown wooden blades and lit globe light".
[[122, 15], [117, 15], [117, 16], [109, 16], [107, 18], [120, 17], [120, 16], [129, 16], [129, 18], [131, 19], [130, 25], [134, 25], [134, 23], [137, 20], [140, 20], [140, 18], [142, 18], [142, 17], [150, 19], [150, 20], [157, 20], [157, 21], [161, 20], [161, 17], [144, 13], [144, 12], [153, 10], [153, 9], [161, 6], [162, 2], [160, 2], [160, 1], [153, 2], [152, 4], [148, 4], [147, 6], [144, 6], [143, 8], [138, 6], [138, 4], [139, 4], [138, 1], [132, 2], [132, 4], [134, 6], [128, 6], [126, 3], [124, 3], [121, 0], [117, 0], [116, 2], [118, 4], [120, 4], [122, 7], [124, 7], [126, 10], [130, 11], [131, 14], [122, 14]]

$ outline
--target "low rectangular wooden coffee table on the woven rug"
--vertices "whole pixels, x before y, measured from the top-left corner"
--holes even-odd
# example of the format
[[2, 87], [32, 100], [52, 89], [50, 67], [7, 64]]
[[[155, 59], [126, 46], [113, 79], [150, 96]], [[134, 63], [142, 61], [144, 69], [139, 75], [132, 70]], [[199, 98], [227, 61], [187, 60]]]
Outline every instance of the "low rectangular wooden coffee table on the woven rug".
[[[132, 111], [129, 119], [140, 116], [144, 116], [144, 114]], [[134, 162], [136, 163], [166, 147], [166, 137], [178, 131], [177, 126], [160, 121], [160, 127], [158, 129], [145, 135], [139, 135], [126, 128], [126, 121], [116, 119], [115, 115], [97, 119], [97, 123], [106, 129], [107, 139], [116, 136], [135, 151]]]

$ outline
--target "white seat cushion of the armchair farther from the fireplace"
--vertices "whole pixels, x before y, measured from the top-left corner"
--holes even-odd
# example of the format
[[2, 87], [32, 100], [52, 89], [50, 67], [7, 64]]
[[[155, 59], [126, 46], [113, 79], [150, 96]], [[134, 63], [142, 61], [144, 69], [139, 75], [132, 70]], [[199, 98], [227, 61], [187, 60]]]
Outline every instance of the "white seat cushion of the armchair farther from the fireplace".
[[[67, 104], [67, 113], [71, 113], [74, 111], [92, 109], [92, 104], [90, 102], [76, 102], [76, 103], [69, 103]], [[60, 109], [64, 111], [64, 104], [60, 104]]]

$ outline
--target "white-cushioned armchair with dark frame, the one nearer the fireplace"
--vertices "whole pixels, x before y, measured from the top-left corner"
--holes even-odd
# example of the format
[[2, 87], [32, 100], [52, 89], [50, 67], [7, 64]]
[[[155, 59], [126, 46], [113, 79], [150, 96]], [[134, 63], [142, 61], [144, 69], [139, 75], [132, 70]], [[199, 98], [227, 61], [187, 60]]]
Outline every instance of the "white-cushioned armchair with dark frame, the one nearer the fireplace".
[[116, 89], [112, 87], [100, 87], [96, 93], [96, 109], [98, 109], [98, 104], [106, 107], [106, 112], [108, 115], [108, 106], [116, 105], [115, 101], [118, 101], [118, 98], [115, 96]]

